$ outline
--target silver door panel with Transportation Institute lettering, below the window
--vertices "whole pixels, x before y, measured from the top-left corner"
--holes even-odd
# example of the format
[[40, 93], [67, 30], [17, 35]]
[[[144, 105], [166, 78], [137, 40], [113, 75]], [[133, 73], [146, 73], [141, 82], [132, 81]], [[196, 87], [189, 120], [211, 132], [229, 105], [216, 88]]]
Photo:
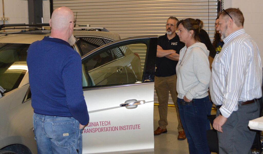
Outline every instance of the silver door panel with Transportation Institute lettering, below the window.
[[[90, 124], [82, 131], [83, 153], [154, 151], [153, 95], [154, 83], [84, 90]], [[130, 99], [145, 100], [145, 104], [120, 107]]]

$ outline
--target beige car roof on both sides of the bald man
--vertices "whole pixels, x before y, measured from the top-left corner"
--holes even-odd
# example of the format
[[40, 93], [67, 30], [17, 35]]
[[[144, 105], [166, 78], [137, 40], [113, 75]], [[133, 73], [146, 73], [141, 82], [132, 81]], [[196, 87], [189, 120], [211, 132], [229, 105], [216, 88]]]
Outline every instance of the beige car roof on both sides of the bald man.
[[[37, 40], [42, 40], [44, 36], [50, 35], [50, 30], [34, 30], [31, 32], [34, 33], [23, 33], [16, 29], [16, 32], [19, 34], [7, 34], [3, 33], [3, 30], [0, 32], [0, 43], [22, 43], [22, 44], [31, 44]], [[14, 33], [14, 31], [13, 31]], [[109, 40], [119, 40], [118, 33], [111, 32], [101, 32], [101, 31], [86, 31], [86, 30], [74, 30], [73, 35], [75, 37], [100, 37]]]

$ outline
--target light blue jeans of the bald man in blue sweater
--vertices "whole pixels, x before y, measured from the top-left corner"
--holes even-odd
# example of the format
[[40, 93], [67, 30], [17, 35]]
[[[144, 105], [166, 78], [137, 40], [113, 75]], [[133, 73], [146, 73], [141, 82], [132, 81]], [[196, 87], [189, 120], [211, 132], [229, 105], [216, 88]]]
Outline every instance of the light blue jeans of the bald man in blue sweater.
[[82, 130], [73, 117], [33, 114], [37, 153], [82, 153]]

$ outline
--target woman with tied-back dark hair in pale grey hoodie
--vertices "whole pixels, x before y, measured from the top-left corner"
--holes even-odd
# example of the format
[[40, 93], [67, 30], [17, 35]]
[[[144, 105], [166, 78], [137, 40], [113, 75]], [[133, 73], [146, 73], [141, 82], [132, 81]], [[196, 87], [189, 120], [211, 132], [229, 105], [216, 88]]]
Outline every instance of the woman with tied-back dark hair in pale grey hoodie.
[[210, 153], [206, 140], [207, 109], [211, 108], [208, 87], [209, 50], [200, 43], [199, 19], [184, 19], [177, 23], [178, 36], [185, 47], [181, 49], [176, 65], [177, 104], [190, 154]]

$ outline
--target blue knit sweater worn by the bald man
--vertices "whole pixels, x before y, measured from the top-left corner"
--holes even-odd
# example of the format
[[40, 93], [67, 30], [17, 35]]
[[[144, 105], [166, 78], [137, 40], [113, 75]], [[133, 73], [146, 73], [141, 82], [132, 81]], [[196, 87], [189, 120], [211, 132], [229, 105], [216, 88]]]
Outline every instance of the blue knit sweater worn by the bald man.
[[27, 65], [35, 113], [74, 117], [82, 125], [89, 122], [80, 55], [67, 42], [44, 37], [32, 43]]

